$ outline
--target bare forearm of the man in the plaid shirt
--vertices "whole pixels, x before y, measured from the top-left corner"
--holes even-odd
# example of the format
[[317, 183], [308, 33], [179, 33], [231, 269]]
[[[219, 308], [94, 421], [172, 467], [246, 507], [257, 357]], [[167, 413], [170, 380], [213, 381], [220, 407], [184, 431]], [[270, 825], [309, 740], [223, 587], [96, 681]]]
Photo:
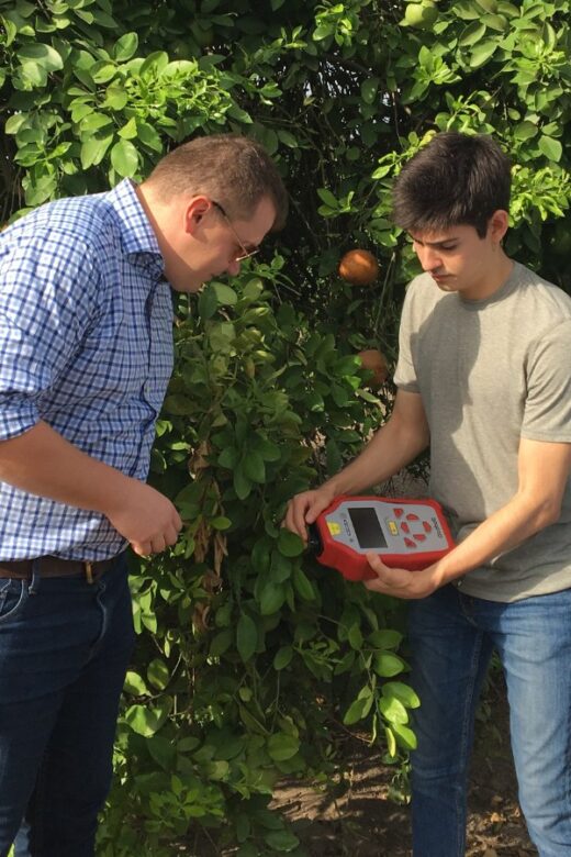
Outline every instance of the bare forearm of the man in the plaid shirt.
[[0, 443], [0, 480], [40, 497], [108, 514], [130, 477], [82, 453], [46, 423]]

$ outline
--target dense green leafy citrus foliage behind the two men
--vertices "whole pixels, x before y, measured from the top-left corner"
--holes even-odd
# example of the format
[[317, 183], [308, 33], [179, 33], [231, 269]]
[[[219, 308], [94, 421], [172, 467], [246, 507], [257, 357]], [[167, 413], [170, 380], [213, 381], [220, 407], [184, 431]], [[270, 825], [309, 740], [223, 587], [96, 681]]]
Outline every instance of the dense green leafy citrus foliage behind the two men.
[[[291, 192], [284, 232], [232, 282], [179, 298], [153, 482], [184, 520], [133, 564], [136, 660], [100, 854], [303, 848], [275, 783], [326, 788], [359, 728], [395, 770], [414, 745], [403, 614], [280, 528], [289, 497], [383, 419], [356, 353], [395, 358], [415, 271], [390, 221], [401, 165], [438, 130], [514, 159], [507, 248], [569, 289], [569, 0], [0, 0], [2, 222], [148, 174], [194, 134], [260, 140]], [[343, 251], [371, 249], [373, 287]], [[194, 853], [194, 852], [193, 852]]]

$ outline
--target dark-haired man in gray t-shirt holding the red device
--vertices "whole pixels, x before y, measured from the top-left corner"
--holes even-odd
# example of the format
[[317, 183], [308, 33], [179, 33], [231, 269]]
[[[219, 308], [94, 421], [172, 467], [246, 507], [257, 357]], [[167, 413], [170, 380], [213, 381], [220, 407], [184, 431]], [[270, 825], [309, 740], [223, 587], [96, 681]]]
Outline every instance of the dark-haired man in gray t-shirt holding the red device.
[[422, 571], [368, 555], [377, 592], [411, 599], [414, 857], [461, 857], [474, 711], [494, 648], [519, 800], [540, 857], [571, 857], [571, 299], [510, 259], [510, 163], [493, 140], [437, 134], [395, 183], [424, 274], [401, 322], [388, 423], [286, 524], [305, 537], [339, 494], [425, 448], [457, 547]]

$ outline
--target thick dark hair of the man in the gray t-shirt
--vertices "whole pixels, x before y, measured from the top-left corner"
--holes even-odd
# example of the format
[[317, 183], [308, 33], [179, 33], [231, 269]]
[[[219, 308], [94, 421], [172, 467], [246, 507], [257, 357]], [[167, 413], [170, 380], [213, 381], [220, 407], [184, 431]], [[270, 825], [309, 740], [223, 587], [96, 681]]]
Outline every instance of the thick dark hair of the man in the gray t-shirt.
[[393, 219], [407, 232], [474, 226], [483, 238], [494, 211], [510, 210], [510, 158], [492, 137], [443, 132], [398, 176]]

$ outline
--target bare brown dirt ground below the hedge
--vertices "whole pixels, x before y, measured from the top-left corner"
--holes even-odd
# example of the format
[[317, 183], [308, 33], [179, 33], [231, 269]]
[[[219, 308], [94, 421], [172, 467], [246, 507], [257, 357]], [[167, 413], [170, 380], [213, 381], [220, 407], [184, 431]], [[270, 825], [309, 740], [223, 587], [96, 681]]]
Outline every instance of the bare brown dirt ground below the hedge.
[[[410, 857], [410, 810], [389, 799], [393, 776], [365, 742], [338, 797], [283, 783], [279, 806], [312, 857]], [[344, 792], [344, 793], [343, 793]], [[469, 797], [467, 857], [537, 856], [516, 797], [503, 682], [489, 688], [478, 723]]]

